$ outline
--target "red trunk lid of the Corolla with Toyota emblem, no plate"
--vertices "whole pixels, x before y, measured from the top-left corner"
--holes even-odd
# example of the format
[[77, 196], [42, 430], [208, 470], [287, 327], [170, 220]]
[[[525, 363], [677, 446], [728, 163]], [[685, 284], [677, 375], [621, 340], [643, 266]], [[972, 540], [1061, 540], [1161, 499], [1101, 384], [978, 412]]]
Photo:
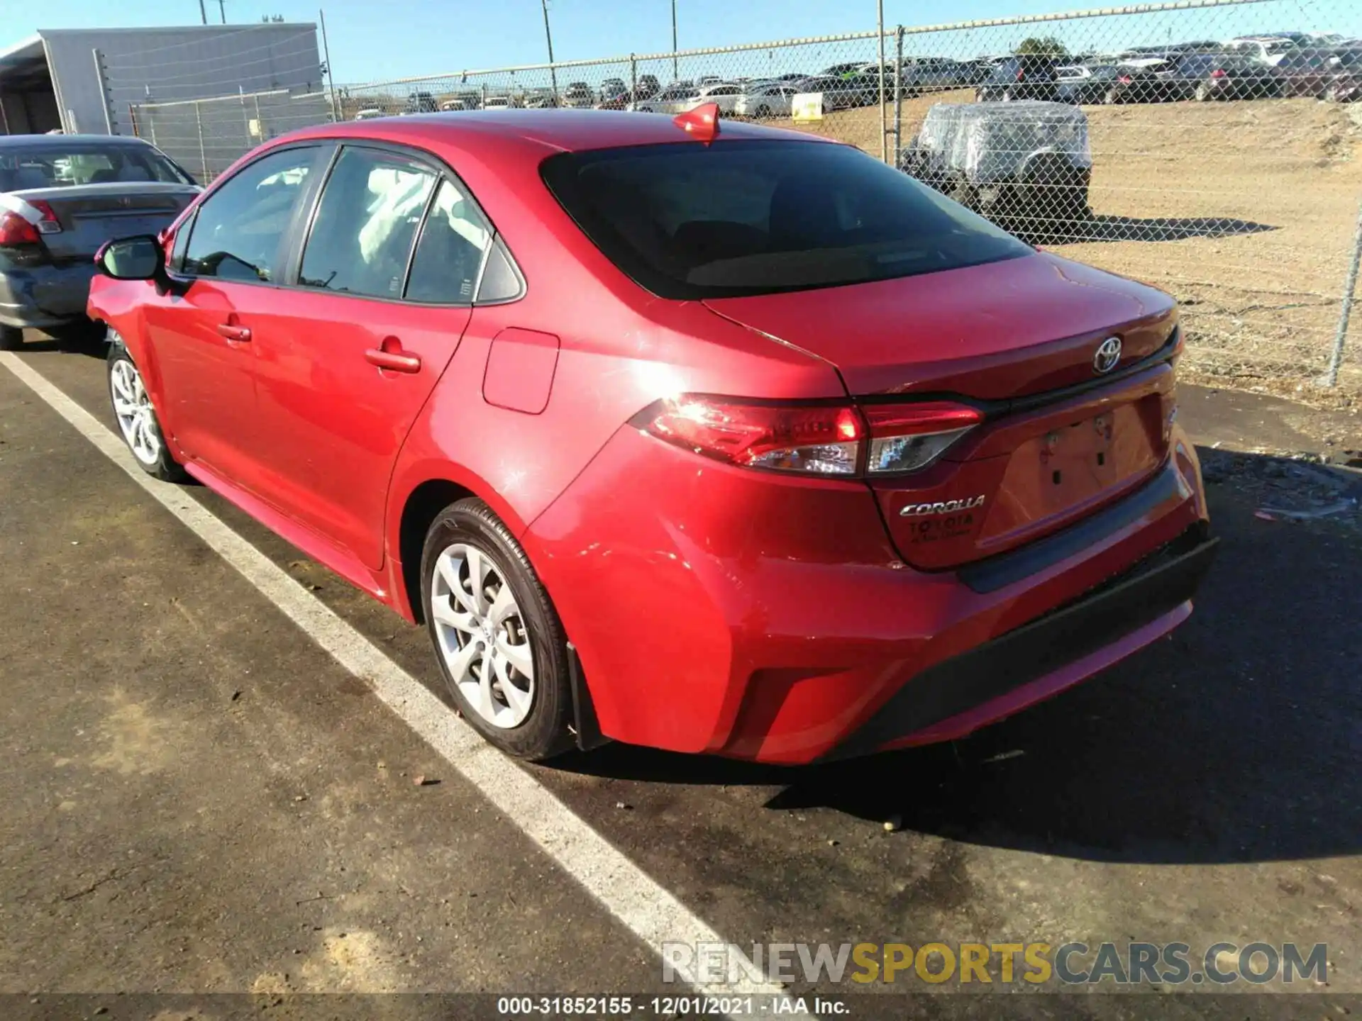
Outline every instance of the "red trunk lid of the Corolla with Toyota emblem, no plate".
[[[900, 555], [947, 569], [1121, 498], [1167, 455], [1177, 324], [1166, 294], [1046, 253], [898, 280], [710, 299], [823, 358], [862, 404], [918, 395], [983, 411], [928, 468], [870, 476]], [[1118, 338], [1105, 372], [1098, 347]], [[1137, 362], [1151, 365], [1136, 370]], [[1110, 383], [1102, 378], [1111, 376]]]

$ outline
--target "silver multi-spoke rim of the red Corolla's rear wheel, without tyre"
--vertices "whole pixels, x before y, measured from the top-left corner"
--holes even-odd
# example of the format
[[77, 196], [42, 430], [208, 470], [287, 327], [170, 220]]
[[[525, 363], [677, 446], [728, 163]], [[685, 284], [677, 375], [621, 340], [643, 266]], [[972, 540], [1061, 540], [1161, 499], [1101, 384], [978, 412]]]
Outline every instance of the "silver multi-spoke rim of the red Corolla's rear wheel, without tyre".
[[511, 730], [534, 707], [534, 655], [524, 615], [501, 569], [477, 546], [436, 558], [430, 615], [459, 694], [485, 722]]

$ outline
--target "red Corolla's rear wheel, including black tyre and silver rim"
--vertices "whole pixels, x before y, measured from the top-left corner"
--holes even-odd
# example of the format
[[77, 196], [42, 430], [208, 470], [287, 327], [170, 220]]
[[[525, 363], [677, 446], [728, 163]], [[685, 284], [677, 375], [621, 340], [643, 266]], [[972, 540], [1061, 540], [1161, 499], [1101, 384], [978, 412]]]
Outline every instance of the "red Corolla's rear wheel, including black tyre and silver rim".
[[572, 746], [563, 623], [524, 550], [475, 497], [447, 506], [421, 554], [421, 603], [449, 694], [518, 758]]

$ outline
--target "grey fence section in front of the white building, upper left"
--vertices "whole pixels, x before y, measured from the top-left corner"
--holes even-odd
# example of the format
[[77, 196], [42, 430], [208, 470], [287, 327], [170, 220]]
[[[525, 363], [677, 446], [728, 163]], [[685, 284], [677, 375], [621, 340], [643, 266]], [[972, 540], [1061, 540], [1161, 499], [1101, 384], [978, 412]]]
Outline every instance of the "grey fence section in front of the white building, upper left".
[[200, 184], [262, 142], [332, 120], [331, 95], [287, 88], [211, 99], [129, 103], [132, 132], [157, 146]]

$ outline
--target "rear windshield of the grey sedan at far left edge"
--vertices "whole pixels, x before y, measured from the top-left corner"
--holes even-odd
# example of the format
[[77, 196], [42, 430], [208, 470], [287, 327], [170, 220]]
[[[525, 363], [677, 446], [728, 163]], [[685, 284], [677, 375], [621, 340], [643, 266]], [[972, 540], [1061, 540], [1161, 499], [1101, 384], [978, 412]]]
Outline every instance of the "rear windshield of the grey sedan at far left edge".
[[0, 192], [135, 181], [193, 184], [180, 167], [150, 146], [52, 142], [45, 146], [0, 147]]

